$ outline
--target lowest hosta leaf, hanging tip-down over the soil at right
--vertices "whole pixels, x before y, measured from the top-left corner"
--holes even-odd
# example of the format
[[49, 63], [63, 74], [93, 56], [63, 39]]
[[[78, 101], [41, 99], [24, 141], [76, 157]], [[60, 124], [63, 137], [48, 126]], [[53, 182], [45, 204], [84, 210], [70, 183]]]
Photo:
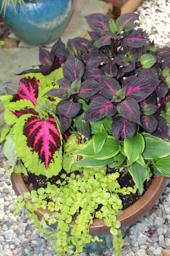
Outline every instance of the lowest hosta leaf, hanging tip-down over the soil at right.
[[128, 167], [128, 170], [130, 175], [132, 175], [132, 178], [135, 182], [135, 185], [137, 185], [140, 194], [142, 194], [143, 182], [148, 178], [147, 168], [140, 165], [140, 163], [135, 162]]

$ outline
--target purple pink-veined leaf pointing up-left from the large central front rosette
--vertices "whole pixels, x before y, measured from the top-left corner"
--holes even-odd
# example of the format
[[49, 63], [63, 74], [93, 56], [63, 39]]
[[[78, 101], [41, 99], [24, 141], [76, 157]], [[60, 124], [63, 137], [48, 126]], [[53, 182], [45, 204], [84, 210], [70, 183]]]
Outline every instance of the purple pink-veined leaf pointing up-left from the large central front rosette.
[[117, 91], [121, 89], [116, 79], [108, 76], [99, 76], [99, 83], [103, 87], [101, 94], [108, 99], [112, 99], [113, 96], [116, 96]]

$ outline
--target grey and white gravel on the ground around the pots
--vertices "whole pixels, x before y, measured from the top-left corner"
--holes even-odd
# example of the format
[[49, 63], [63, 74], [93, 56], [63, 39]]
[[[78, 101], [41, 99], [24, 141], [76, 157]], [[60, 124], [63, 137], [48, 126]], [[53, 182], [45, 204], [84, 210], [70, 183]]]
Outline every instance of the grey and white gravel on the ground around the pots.
[[[151, 35], [156, 45], [168, 45], [170, 19], [167, 0], [146, 0], [138, 7], [141, 27]], [[153, 35], [152, 35], [153, 34]], [[11, 180], [5, 175], [3, 165], [8, 165], [0, 144], [0, 256], [53, 256], [48, 242], [35, 230], [32, 219], [26, 211], [14, 217], [12, 202], [17, 198], [12, 190]], [[161, 249], [170, 249], [170, 178], [158, 202], [147, 216], [130, 227], [125, 236], [123, 256], [161, 256]], [[113, 250], [89, 256], [111, 256]], [[81, 254], [87, 256], [87, 254]]]

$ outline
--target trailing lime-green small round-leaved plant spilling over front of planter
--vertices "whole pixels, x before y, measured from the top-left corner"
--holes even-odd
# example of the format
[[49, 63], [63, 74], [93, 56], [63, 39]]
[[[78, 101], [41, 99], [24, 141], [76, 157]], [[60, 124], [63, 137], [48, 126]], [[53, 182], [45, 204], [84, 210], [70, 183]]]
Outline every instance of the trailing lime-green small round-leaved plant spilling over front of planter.
[[[67, 145], [67, 149], [72, 145]], [[119, 173], [106, 175], [106, 167], [102, 168], [83, 168], [80, 175], [72, 173], [66, 176], [62, 173], [61, 178], [64, 181], [60, 186], [51, 185], [48, 182], [46, 189], [40, 188], [36, 192], [25, 193], [17, 198], [14, 206], [15, 215], [20, 213], [20, 208], [28, 209], [28, 217], [33, 217], [35, 226], [43, 233], [44, 237], [49, 240], [53, 249], [57, 249], [57, 255], [67, 255], [73, 253], [72, 243], [75, 245], [75, 255], [80, 255], [83, 251], [83, 245], [89, 242], [100, 242], [98, 237], [91, 237], [89, 234], [90, 224], [93, 218], [103, 218], [106, 226], [111, 228], [111, 234], [114, 235], [113, 246], [116, 249], [115, 255], [120, 255], [121, 247], [124, 242], [120, 227], [120, 222], [116, 220], [116, 215], [122, 209], [122, 201], [118, 193], [130, 194], [135, 193], [136, 188], [121, 188], [117, 182]], [[67, 183], [66, 183], [67, 180]], [[27, 201], [32, 199], [33, 204]], [[51, 199], [46, 201], [46, 199]], [[101, 205], [100, 208], [98, 206]], [[44, 214], [41, 221], [33, 211], [38, 208], [48, 209], [51, 214]], [[98, 208], [98, 211], [96, 209]], [[81, 210], [80, 210], [81, 209]], [[69, 232], [69, 224], [72, 222], [72, 216], [78, 213], [72, 230]], [[57, 222], [57, 231], [49, 232], [47, 225]]]

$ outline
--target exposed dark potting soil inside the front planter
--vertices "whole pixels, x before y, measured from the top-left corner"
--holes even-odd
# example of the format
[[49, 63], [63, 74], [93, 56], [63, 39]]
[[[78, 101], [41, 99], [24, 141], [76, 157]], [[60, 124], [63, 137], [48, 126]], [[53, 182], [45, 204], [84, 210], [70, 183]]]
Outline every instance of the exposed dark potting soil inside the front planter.
[[[115, 170], [113, 168], [108, 168], [108, 173], [113, 173], [113, 172], [115, 172]], [[61, 173], [66, 173], [66, 172], [61, 171]], [[61, 173], [60, 173], [60, 175], [61, 175]], [[78, 174], [78, 173], [79, 172], [76, 171], [75, 174]], [[22, 174], [22, 177], [23, 177], [23, 181], [25, 182], [25, 185], [27, 186], [29, 191], [38, 190], [38, 188], [46, 188], [48, 181], [54, 185], [56, 184], [56, 181], [58, 179], [60, 179], [62, 181], [60, 176], [53, 176], [52, 178], [49, 178], [47, 180], [47, 178], [43, 175], [36, 176], [34, 173], [30, 173], [30, 172], [28, 172], [28, 176], [25, 176]], [[121, 188], [123, 186], [127, 187], [127, 186], [135, 185], [134, 180], [129, 172], [120, 173], [120, 176], [117, 179], [117, 181], [121, 185]], [[150, 180], [144, 182], [142, 195], [145, 193], [145, 191], [147, 191], [147, 189], [151, 185], [152, 181], [153, 181], [153, 177], [151, 177]], [[137, 190], [137, 192], [135, 194], [130, 193], [130, 194], [124, 195], [124, 194], [119, 193], [119, 197], [122, 200], [122, 204], [123, 204], [122, 209], [124, 210], [124, 209], [128, 208], [129, 206], [131, 206], [132, 204], [134, 204], [138, 199], [140, 199], [141, 195], [140, 195], [139, 191]]]

